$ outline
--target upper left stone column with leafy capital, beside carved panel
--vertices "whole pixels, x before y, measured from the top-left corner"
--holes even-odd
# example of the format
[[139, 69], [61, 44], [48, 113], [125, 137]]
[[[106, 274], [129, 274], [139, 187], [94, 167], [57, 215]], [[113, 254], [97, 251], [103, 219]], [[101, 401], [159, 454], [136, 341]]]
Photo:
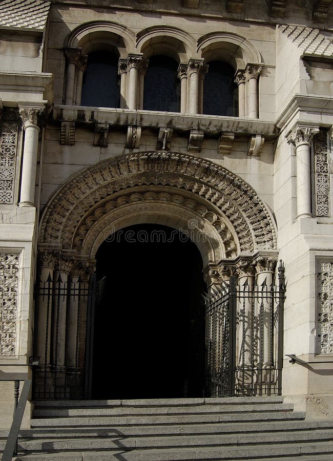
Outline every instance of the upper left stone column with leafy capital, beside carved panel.
[[37, 170], [38, 136], [37, 112], [40, 107], [22, 107], [19, 115], [25, 131], [22, 182], [19, 206], [35, 206], [35, 182]]

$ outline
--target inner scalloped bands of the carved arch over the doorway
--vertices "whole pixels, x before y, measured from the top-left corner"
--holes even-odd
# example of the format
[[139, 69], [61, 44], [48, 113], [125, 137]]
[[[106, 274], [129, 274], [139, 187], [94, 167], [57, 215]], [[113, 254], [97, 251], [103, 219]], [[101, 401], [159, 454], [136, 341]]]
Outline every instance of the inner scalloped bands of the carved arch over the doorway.
[[[93, 207], [76, 228], [73, 248], [82, 248], [82, 253], [94, 257], [102, 241], [120, 228], [120, 220], [127, 220], [129, 225], [133, 216], [133, 223], [137, 223], [140, 217], [144, 222], [159, 220], [170, 224], [173, 220], [173, 225], [195, 241], [198, 247], [205, 246], [209, 250], [210, 261], [235, 258], [239, 253], [239, 242], [231, 223], [218, 210], [216, 213], [212, 206], [209, 210], [193, 194], [159, 192], [152, 187], [148, 192], [139, 191], [140, 188], [127, 193], [122, 191]], [[165, 218], [160, 219], [162, 214]], [[203, 250], [203, 256], [205, 253]]]

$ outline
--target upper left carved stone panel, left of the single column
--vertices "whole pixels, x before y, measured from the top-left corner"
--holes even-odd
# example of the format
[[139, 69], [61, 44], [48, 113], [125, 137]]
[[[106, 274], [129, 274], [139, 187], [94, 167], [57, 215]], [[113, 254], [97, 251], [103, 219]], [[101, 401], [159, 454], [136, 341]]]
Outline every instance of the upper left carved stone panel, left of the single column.
[[0, 203], [14, 201], [18, 112], [4, 108], [0, 136]]

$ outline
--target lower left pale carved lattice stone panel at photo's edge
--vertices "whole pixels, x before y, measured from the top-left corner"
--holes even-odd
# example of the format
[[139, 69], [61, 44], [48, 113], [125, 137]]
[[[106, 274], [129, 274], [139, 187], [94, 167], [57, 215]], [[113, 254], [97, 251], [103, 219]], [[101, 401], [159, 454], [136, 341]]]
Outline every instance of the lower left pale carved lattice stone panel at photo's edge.
[[0, 356], [16, 355], [18, 266], [18, 254], [0, 254]]

